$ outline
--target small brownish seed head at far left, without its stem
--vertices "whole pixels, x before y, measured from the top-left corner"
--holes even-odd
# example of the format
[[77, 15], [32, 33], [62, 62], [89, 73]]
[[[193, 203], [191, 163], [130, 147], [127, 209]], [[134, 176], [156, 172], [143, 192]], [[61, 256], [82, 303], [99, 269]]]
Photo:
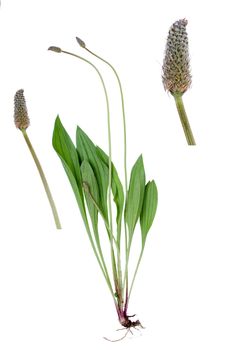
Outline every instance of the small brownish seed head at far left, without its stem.
[[18, 90], [14, 97], [14, 122], [18, 129], [27, 129], [30, 125], [23, 91]]

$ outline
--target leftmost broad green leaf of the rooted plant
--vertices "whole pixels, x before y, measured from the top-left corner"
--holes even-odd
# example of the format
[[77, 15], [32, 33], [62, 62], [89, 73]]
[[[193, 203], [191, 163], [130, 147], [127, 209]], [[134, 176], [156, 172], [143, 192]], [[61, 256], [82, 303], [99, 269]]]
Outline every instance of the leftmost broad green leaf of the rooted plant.
[[75, 146], [72, 143], [67, 131], [63, 127], [59, 117], [57, 117], [55, 121], [52, 144], [56, 153], [61, 159], [64, 170], [68, 176], [79, 205], [82, 218], [85, 225], [87, 225], [78, 155]]

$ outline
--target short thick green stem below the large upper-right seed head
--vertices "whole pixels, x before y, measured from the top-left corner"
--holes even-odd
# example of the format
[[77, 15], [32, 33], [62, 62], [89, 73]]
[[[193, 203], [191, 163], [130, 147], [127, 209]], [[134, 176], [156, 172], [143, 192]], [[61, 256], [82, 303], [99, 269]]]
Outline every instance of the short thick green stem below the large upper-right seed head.
[[184, 103], [182, 99], [182, 94], [175, 93], [173, 94], [173, 97], [176, 102], [176, 108], [178, 110], [179, 116], [180, 116], [180, 121], [185, 133], [185, 137], [187, 140], [188, 145], [196, 145], [196, 142], [194, 140], [194, 136], [188, 121], [188, 117], [184, 108]]

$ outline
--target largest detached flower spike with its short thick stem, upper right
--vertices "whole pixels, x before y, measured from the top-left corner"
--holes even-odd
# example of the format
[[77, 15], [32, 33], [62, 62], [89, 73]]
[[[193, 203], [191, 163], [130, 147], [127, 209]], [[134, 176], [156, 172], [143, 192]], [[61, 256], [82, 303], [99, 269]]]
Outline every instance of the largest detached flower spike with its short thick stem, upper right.
[[175, 99], [188, 145], [196, 145], [182, 100], [182, 95], [192, 83], [188, 34], [186, 32], [187, 24], [186, 19], [180, 19], [173, 23], [169, 29], [162, 79], [165, 90], [169, 91]]

